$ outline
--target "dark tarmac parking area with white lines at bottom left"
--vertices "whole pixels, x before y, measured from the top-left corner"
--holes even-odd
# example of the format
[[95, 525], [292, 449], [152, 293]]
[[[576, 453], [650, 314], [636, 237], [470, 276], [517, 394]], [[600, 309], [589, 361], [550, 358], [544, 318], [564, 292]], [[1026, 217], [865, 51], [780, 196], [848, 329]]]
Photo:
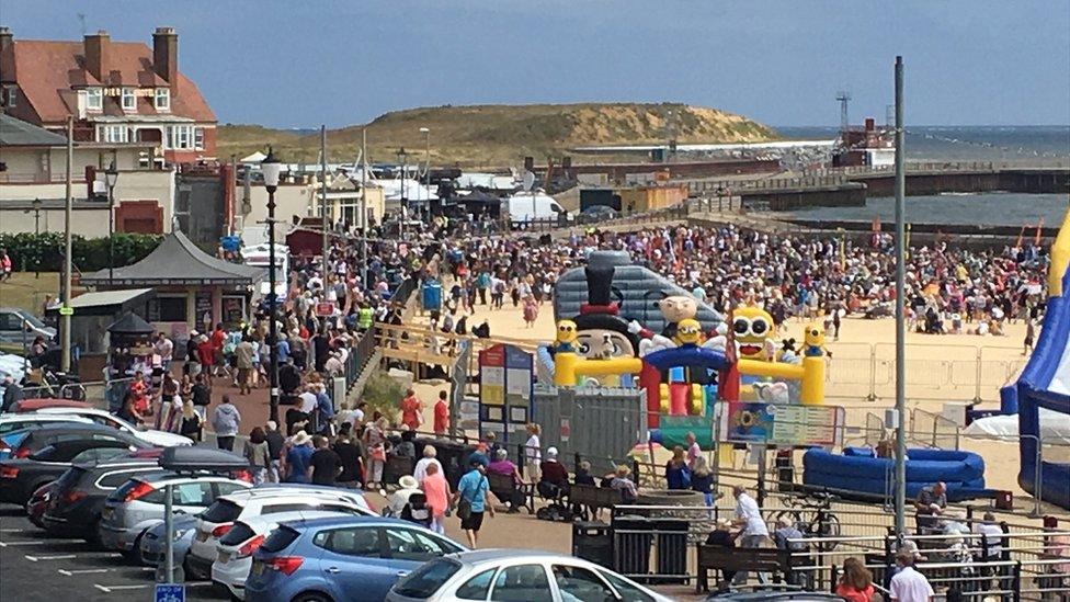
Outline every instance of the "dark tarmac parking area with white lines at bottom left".
[[[155, 569], [81, 539], [52, 537], [21, 508], [0, 507], [0, 600], [152, 600]], [[229, 600], [208, 581], [186, 583], [186, 600]]]

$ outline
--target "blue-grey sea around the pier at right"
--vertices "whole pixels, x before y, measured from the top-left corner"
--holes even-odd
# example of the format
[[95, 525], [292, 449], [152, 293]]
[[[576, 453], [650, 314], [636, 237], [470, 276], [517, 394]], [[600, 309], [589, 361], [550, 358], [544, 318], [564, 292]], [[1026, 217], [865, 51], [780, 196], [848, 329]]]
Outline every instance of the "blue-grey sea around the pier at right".
[[[777, 127], [787, 139], [831, 139], [836, 127]], [[1009, 161], [1054, 164], [1070, 158], [1070, 125], [918, 126], [904, 134], [908, 161]], [[1062, 223], [1070, 195], [986, 192], [908, 196], [906, 218], [914, 224], [986, 226]], [[864, 207], [813, 207], [792, 215], [813, 219], [895, 219], [895, 200], [876, 197]]]

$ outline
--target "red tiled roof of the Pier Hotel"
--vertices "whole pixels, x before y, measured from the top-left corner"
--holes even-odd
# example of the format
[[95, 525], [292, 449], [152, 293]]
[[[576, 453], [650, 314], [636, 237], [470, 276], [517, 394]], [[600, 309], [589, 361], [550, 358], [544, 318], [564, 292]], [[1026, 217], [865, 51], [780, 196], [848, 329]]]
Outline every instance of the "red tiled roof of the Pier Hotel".
[[[72, 86], [167, 86], [152, 70], [152, 50], [140, 42], [110, 43], [104, 81], [98, 81], [86, 70], [81, 42], [15, 39], [13, 46], [19, 87], [43, 123], [62, 122], [73, 113], [76, 100], [70, 90]], [[171, 111], [168, 114], [197, 122], [216, 121], [201, 91], [181, 72], [171, 90]], [[104, 113], [122, 114], [117, 102], [117, 98], [105, 96]], [[151, 99], [139, 98], [137, 113], [156, 114]]]

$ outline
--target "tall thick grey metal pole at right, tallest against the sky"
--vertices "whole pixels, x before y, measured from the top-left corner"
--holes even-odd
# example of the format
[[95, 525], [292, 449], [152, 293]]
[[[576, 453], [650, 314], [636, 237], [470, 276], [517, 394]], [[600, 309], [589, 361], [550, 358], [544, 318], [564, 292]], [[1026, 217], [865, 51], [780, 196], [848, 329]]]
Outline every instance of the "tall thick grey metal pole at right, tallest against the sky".
[[896, 57], [896, 534], [906, 533], [907, 508], [907, 327], [903, 316], [906, 295], [906, 220], [903, 197], [907, 172], [903, 162], [902, 57]]

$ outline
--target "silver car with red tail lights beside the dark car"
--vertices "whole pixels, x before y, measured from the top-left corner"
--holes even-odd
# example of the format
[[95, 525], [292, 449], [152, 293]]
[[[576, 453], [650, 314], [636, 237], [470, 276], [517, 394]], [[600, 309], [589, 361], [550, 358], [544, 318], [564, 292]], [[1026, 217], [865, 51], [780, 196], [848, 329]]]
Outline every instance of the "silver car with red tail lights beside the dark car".
[[[246, 476], [248, 479], [248, 475]], [[104, 501], [100, 538], [106, 549], [117, 549], [137, 559], [139, 538], [149, 527], [163, 522], [164, 488], [171, 486], [174, 512], [196, 514], [220, 496], [252, 487], [249, 480], [214, 474], [147, 473], [134, 475]]]

